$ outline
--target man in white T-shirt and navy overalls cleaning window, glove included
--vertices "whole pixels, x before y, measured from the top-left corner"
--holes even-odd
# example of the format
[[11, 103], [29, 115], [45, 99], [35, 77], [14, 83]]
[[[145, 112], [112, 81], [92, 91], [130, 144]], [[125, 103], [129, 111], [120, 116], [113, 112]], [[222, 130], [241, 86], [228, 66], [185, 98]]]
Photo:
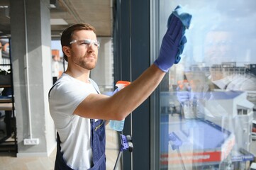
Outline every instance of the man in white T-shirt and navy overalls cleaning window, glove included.
[[186, 42], [185, 27], [173, 14], [168, 22], [154, 64], [111, 97], [99, 94], [89, 79], [98, 59], [95, 29], [79, 23], [64, 30], [61, 43], [68, 67], [49, 91], [50, 114], [58, 137], [55, 169], [106, 169], [105, 120], [126, 118], [150, 96], [169, 67], [179, 62], [177, 57]]

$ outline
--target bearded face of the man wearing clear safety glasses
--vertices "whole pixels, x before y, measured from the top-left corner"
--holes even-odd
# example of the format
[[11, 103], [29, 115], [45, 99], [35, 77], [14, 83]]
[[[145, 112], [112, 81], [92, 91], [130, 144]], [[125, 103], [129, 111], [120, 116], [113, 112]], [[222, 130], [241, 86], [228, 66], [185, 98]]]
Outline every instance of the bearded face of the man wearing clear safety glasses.
[[[92, 30], [77, 30], [72, 36], [70, 55], [68, 56], [69, 64], [75, 64], [84, 69], [94, 69], [98, 60], [98, 47], [94, 43], [88, 44], [84, 40], [97, 40], [96, 34]], [[72, 62], [72, 63], [70, 63]]]

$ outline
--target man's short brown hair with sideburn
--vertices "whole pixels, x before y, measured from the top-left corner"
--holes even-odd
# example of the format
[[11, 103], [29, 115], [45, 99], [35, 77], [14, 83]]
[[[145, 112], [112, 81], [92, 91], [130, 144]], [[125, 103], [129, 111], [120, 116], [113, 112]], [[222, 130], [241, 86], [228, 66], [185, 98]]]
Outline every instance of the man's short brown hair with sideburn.
[[[62, 32], [62, 35], [60, 38], [62, 47], [69, 46], [69, 42], [71, 41], [72, 35], [73, 35], [74, 31], [76, 31], [76, 30], [93, 30], [94, 33], [96, 33], [95, 28], [93, 26], [91, 26], [89, 23], [77, 23], [72, 26], [69, 26]], [[63, 52], [63, 50], [62, 50], [62, 52]], [[64, 52], [63, 52], [63, 55], [64, 55], [65, 60], [67, 61], [67, 56], [65, 55]]]

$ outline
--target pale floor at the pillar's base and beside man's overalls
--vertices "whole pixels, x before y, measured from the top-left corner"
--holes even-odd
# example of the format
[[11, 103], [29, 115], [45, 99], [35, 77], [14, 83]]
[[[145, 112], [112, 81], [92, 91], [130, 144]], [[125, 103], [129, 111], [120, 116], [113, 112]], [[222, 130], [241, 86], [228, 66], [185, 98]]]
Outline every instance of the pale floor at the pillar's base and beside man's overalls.
[[[118, 156], [117, 132], [106, 128], [106, 166], [112, 170]], [[56, 149], [49, 157], [16, 157], [12, 152], [0, 152], [0, 170], [50, 170], [54, 169]], [[120, 169], [120, 164], [118, 168]]]

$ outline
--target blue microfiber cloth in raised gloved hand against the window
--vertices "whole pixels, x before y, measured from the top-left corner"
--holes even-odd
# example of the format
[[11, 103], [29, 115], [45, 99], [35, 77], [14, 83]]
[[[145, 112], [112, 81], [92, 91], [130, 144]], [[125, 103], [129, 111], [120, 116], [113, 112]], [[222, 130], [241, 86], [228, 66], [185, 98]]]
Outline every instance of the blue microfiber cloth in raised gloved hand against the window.
[[179, 18], [179, 20], [182, 22], [182, 24], [184, 26], [184, 28], [182, 30], [183, 37], [179, 43], [179, 51], [177, 52], [176, 60], [174, 62], [174, 64], [177, 64], [181, 60], [181, 57], [179, 55], [182, 55], [182, 52], [184, 50], [184, 45], [187, 42], [187, 38], [184, 35], [185, 35], [185, 30], [189, 29], [192, 16], [191, 16], [191, 14], [184, 12], [184, 8], [182, 8], [182, 6], [179, 5], [174, 9], [172, 14], [169, 16], [168, 22], [167, 22], [167, 28], [169, 28], [170, 21], [171, 21], [172, 17], [174, 17], [174, 16]]

